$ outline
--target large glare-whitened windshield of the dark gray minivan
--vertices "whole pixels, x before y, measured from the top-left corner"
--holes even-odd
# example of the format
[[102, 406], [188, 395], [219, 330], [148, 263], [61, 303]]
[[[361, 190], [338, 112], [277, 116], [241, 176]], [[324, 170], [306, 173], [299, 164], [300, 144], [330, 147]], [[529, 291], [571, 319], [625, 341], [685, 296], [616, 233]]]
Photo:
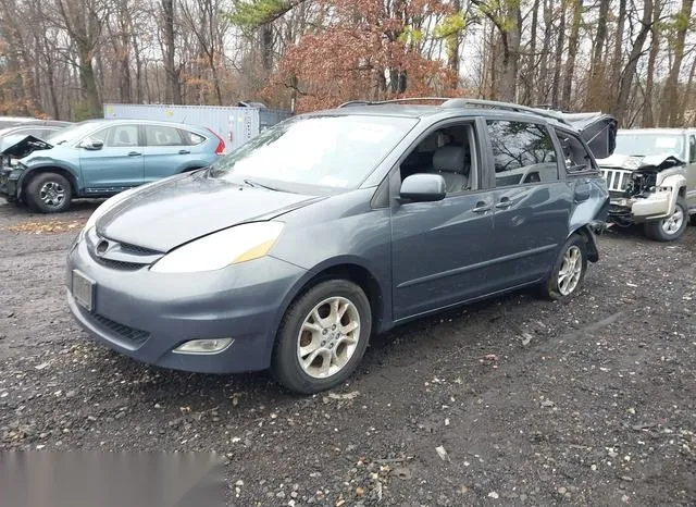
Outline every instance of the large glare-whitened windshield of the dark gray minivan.
[[417, 123], [398, 116], [296, 116], [215, 162], [210, 175], [251, 185], [259, 178], [357, 188]]

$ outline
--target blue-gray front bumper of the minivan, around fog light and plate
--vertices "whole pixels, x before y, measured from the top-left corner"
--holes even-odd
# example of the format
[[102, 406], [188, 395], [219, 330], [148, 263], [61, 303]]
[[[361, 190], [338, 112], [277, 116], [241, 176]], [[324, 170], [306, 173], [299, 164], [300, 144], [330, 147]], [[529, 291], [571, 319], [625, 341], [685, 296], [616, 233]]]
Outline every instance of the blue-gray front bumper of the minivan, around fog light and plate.
[[[94, 308], [71, 293], [73, 270], [96, 282]], [[103, 265], [76, 243], [67, 257], [67, 302], [98, 342], [139, 361], [174, 370], [236, 373], [270, 366], [291, 288], [307, 271], [273, 257], [202, 273], [156, 273]], [[190, 339], [234, 342], [215, 354], [173, 350]]]

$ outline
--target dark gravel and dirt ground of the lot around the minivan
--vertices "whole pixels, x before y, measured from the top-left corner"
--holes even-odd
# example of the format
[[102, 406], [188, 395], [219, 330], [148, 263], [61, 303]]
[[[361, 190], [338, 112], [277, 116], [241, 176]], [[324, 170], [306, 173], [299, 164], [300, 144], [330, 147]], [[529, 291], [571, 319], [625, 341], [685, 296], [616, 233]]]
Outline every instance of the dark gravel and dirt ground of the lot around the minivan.
[[696, 504], [696, 227], [610, 233], [573, 302], [424, 319], [298, 397], [92, 344], [63, 280], [95, 206], [55, 222], [0, 199], [0, 448], [215, 450], [245, 506]]

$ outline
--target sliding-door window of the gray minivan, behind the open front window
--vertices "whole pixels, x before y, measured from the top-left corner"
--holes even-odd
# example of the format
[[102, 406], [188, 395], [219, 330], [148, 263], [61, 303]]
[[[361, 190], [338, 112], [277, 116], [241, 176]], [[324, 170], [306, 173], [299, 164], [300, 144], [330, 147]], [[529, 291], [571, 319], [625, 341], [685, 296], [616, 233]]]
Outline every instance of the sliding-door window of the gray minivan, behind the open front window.
[[544, 125], [487, 122], [496, 170], [496, 187], [558, 180], [558, 160]]

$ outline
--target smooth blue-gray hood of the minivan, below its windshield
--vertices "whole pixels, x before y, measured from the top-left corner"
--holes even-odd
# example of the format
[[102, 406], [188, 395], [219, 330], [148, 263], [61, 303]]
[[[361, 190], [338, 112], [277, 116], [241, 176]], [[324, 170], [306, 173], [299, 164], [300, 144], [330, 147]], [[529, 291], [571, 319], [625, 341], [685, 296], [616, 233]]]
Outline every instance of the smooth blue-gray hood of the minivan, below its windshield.
[[97, 234], [166, 252], [207, 234], [271, 220], [321, 199], [211, 178], [200, 171], [137, 189], [97, 220]]

